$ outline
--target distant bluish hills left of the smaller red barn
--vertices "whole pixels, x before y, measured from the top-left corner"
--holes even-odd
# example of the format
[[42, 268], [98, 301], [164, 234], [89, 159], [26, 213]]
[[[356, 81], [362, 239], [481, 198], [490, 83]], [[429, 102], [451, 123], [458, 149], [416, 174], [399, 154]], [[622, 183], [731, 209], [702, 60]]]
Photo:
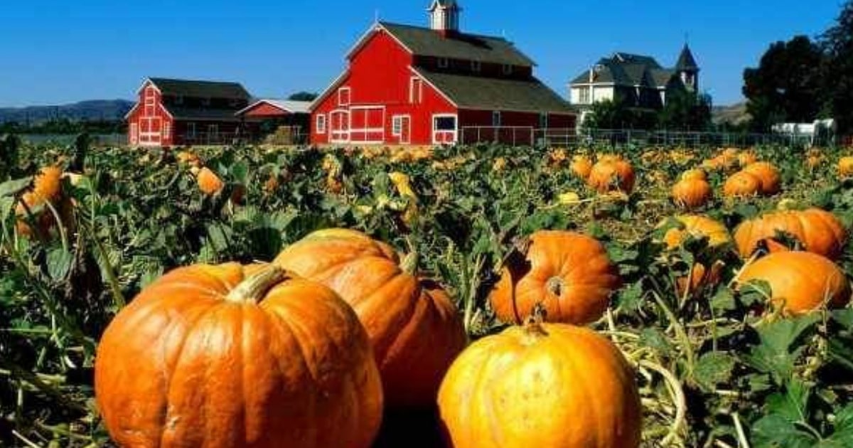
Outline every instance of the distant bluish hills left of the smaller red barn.
[[61, 106], [30, 106], [27, 108], [0, 108], [0, 123], [17, 121], [31, 125], [51, 119], [72, 121], [120, 120], [125, 118], [135, 103], [127, 100], [93, 100]]

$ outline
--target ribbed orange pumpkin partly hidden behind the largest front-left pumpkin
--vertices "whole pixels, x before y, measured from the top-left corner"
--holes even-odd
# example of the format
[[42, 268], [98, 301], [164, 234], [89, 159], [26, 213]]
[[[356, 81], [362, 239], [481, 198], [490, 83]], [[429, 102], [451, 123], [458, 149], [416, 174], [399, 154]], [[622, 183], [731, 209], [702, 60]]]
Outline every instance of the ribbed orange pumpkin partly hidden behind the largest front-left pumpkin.
[[435, 402], [444, 372], [467, 340], [444, 290], [414, 275], [416, 257], [401, 265], [387, 244], [354, 230], [330, 229], [287, 247], [274, 263], [322, 282], [353, 307], [368, 330], [387, 404]]

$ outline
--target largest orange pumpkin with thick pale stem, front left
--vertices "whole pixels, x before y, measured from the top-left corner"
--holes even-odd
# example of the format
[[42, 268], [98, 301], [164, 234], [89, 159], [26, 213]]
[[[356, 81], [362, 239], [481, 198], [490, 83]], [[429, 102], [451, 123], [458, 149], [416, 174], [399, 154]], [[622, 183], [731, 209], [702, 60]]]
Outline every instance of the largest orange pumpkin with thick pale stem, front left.
[[119, 445], [370, 446], [382, 390], [367, 333], [334, 291], [282, 272], [179, 268], [119, 312], [95, 365]]

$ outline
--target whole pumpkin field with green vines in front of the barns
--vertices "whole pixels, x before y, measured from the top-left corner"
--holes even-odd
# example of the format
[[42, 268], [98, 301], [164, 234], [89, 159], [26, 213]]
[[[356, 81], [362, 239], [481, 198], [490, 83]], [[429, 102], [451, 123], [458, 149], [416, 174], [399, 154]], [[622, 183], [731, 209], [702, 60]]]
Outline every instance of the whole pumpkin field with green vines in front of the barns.
[[0, 445], [853, 446], [853, 148], [3, 145]]

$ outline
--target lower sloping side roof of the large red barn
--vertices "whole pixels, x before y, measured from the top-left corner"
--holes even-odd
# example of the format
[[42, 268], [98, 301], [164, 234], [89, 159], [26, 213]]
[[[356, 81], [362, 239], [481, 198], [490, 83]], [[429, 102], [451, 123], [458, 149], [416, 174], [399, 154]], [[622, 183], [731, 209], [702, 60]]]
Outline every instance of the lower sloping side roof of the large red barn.
[[538, 79], [499, 79], [413, 68], [457, 108], [571, 113], [572, 107]]

